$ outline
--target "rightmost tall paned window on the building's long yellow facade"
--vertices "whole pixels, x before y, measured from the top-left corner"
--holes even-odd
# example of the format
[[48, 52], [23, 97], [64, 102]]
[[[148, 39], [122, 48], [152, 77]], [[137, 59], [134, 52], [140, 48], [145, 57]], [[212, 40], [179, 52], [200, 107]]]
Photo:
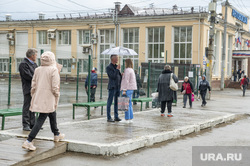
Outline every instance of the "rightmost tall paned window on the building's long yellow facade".
[[192, 27], [174, 28], [174, 63], [192, 63]]

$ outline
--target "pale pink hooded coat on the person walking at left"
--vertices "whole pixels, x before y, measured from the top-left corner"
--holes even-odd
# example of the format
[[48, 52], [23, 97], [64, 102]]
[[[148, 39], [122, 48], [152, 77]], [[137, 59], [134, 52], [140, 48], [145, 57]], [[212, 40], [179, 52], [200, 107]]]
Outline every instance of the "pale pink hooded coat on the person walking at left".
[[51, 113], [57, 109], [60, 97], [60, 76], [55, 55], [45, 52], [41, 56], [41, 66], [36, 68], [32, 84], [30, 111]]

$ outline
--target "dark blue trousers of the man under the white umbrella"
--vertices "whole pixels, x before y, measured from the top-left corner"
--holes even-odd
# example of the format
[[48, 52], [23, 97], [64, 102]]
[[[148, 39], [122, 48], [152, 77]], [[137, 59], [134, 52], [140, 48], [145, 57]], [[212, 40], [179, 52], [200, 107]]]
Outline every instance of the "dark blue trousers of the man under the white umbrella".
[[114, 98], [114, 112], [115, 112], [115, 119], [118, 117], [118, 97], [120, 96], [119, 89], [109, 89], [109, 96], [107, 101], [107, 119], [111, 119], [110, 109]]

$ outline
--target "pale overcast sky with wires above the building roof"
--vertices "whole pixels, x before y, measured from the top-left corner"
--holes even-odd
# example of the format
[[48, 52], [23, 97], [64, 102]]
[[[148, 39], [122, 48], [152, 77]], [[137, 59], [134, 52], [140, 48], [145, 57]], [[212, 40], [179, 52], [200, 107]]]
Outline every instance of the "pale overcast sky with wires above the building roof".
[[[206, 7], [210, 0], [118, 0], [121, 8], [125, 4], [136, 7], [149, 7], [153, 3], [155, 8], [172, 8], [177, 5], [182, 8]], [[5, 20], [6, 14], [11, 14], [13, 20], [38, 19], [38, 13], [45, 14], [45, 18], [64, 18], [86, 16], [87, 14], [108, 12], [114, 8], [115, 0], [0, 0], [0, 20]], [[218, 10], [221, 8], [218, 2]], [[250, 0], [229, 0], [229, 3], [239, 11], [250, 16]]]

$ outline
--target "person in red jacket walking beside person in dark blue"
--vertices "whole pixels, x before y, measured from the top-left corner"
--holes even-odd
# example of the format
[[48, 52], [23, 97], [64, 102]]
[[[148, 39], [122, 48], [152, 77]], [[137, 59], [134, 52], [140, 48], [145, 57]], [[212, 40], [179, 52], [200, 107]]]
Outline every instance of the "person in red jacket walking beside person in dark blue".
[[194, 92], [193, 84], [189, 81], [188, 77], [184, 78], [181, 86], [181, 93], [183, 94], [183, 108], [186, 108], [187, 98], [189, 98], [189, 106], [192, 108], [192, 94]]

